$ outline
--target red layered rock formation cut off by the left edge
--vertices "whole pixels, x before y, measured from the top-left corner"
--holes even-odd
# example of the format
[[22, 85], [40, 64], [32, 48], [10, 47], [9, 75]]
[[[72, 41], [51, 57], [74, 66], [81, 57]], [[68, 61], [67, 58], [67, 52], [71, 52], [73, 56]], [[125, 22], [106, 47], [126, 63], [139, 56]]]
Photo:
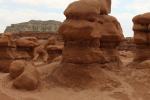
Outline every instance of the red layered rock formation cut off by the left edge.
[[8, 72], [10, 63], [15, 59], [13, 55], [14, 45], [11, 34], [3, 34], [0, 37], [0, 71]]

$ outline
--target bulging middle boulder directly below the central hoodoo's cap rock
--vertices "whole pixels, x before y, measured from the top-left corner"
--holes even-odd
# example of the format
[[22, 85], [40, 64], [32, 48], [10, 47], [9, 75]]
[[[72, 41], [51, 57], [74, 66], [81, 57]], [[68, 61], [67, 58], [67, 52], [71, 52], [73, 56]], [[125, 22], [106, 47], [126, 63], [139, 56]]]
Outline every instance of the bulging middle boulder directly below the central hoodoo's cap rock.
[[90, 39], [100, 37], [98, 27], [98, 23], [92, 23], [87, 20], [68, 19], [63, 23], [59, 31], [66, 40]]

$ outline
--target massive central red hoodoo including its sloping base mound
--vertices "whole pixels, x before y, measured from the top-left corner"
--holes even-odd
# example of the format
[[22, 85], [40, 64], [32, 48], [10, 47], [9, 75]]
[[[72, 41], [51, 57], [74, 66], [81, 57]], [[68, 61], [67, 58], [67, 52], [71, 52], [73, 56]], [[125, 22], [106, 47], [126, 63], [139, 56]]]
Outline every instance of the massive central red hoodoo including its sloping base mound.
[[63, 59], [51, 76], [59, 84], [80, 88], [105, 84], [109, 77], [101, 68], [120, 61], [116, 47], [123, 39], [122, 29], [116, 18], [101, 13], [103, 5], [99, 0], [80, 0], [65, 10], [66, 20], [59, 28], [65, 42]]

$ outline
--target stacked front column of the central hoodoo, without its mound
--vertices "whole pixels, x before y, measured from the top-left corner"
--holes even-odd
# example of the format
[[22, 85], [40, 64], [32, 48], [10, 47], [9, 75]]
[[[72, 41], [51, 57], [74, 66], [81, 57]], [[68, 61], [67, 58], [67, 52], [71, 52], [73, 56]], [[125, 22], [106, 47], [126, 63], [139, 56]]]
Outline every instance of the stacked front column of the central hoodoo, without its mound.
[[[90, 3], [89, 3], [90, 2]], [[100, 5], [94, 1], [77, 1], [65, 11], [66, 20], [59, 31], [64, 37], [63, 63], [104, 63], [99, 48], [101, 37], [98, 16]]]

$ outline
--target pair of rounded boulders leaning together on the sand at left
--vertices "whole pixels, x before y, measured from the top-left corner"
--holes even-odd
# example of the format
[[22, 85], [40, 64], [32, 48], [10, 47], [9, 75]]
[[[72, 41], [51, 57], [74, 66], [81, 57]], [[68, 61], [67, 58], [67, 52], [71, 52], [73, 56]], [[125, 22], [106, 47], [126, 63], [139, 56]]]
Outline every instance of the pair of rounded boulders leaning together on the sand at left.
[[14, 78], [13, 86], [18, 89], [34, 90], [39, 84], [39, 73], [30, 62], [12, 62], [10, 76]]

